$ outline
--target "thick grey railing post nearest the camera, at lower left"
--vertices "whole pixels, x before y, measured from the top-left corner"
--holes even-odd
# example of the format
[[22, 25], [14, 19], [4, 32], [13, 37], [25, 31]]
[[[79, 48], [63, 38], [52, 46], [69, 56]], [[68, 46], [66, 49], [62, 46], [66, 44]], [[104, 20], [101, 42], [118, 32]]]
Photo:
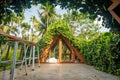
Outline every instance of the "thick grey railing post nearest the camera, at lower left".
[[18, 49], [18, 42], [15, 41], [14, 53], [13, 53], [13, 58], [12, 58], [12, 68], [11, 68], [10, 80], [14, 80], [17, 49]]

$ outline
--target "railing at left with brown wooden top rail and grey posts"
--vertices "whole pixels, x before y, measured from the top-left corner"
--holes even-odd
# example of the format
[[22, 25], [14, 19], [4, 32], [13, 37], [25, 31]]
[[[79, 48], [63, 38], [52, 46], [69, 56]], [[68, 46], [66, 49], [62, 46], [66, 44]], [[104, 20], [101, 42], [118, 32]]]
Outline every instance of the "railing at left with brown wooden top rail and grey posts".
[[[16, 64], [21, 64], [20, 69], [23, 68], [23, 64], [25, 63], [25, 73], [27, 75], [27, 66], [31, 65], [31, 61], [32, 61], [32, 70], [34, 70], [34, 64], [35, 64], [35, 59], [38, 59], [38, 66], [40, 66], [40, 61], [39, 61], [39, 49], [37, 47], [37, 44], [31, 41], [27, 41], [24, 40], [22, 38], [18, 38], [16, 36], [12, 36], [9, 34], [4, 33], [2, 30], [0, 30], [0, 35], [6, 37], [7, 39], [5, 40], [6, 43], [2, 44], [4, 45], [3, 48], [1, 49], [1, 55], [0, 55], [0, 65], [4, 64], [4, 67], [6, 67], [6, 64], [11, 64], [11, 69], [10, 69], [10, 80], [14, 80], [15, 78], [15, 67]], [[2, 43], [2, 42], [0, 42]], [[9, 55], [9, 51], [7, 51], [6, 54], [6, 60], [3, 61], [3, 55], [5, 55], [5, 50], [7, 49], [9, 45], [9, 43], [13, 43], [14, 44], [14, 52], [12, 54], [12, 60], [8, 60], [8, 55]], [[18, 46], [21, 44], [23, 44], [23, 56], [21, 60], [17, 60], [16, 59], [16, 55], [18, 53]], [[12, 47], [12, 46], [11, 46]], [[28, 53], [28, 48], [30, 49], [30, 53]], [[37, 57], [35, 57], [35, 50], [37, 51]], [[21, 53], [22, 54], [22, 53]], [[29, 56], [27, 56], [27, 54]], [[28, 64], [27, 64], [28, 61]], [[4, 68], [5, 70], [5, 68]], [[8, 76], [8, 75], [6, 75]]]

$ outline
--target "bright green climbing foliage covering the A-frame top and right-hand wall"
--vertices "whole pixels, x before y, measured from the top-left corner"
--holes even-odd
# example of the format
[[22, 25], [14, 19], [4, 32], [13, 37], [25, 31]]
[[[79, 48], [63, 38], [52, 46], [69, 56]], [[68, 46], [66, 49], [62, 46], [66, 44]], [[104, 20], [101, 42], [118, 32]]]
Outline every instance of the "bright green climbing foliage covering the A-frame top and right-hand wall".
[[114, 33], [102, 33], [93, 40], [83, 40], [74, 37], [71, 27], [58, 20], [47, 28], [46, 34], [39, 40], [40, 51], [49, 44], [55, 35], [68, 38], [72, 46], [83, 54], [86, 63], [100, 71], [120, 75], [120, 35]]

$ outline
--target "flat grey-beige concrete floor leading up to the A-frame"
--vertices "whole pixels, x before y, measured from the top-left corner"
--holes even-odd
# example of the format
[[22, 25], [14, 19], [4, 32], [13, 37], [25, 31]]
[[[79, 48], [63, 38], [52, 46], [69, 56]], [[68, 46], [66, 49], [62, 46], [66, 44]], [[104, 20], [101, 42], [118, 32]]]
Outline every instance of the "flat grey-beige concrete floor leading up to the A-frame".
[[[24, 69], [16, 69], [15, 80], [120, 80], [86, 64], [41, 64], [35, 71], [31, 67], [27, 71], [26, 76]], [[0, 80], [9, 80], [9, 72], [0, 72]]]

